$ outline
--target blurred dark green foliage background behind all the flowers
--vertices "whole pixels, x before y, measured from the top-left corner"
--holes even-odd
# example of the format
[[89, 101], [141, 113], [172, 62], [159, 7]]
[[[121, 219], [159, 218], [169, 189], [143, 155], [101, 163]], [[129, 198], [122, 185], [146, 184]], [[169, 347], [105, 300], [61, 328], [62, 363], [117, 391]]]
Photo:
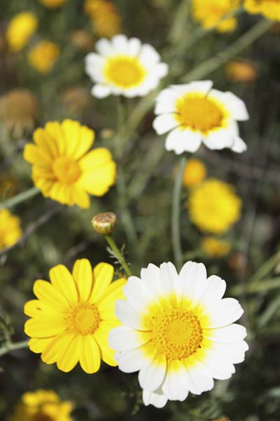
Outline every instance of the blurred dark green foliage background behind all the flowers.
[[[1, 1], [1, 201], [32, 186], [31, 168], [22, 159], [22, 149], [31, 140], [32, 126], [43, 126], [46, 121], [71, 118], [93, 128], [95, 145], [108, 147], [118, 162], [116, 187], [100, 199], [92, 198], [89, 210], [60, 206], [40, 194], [13, 208], [27, 234], [8, 252], [0, 250], [0, 312], [13, 332], [13, 340], [25, 339], [23, 305], [33, 298], [34, 280], [48, 279], [50, 267], [63, 263], [71, 268], [73, 261], [82, 257], [93, 264], [114, 262], [102, 236], [92, 230], [93, 215], [104, 211], [118, 215], [114, 239], [120, 247], [125, 246], [125, 257], [134, 274], [138, 275], [148, 262], [158, 265], [172, 260], [170, 210], [178, 157], [165, 151], [164, 138], [156, 136], [151, 128], [153, 98], [139, 126], [128, 135], [116, 135], [116, 107], [121, 104], [130, 116], [140, 100], [93, 98], [84, 58], [93, 51], [99, 36], [112, 35], [106, 30], [112, 32], [115, 25], [117, 32], [152, 44], [163, 61], [168, 62], [170, 52], [177, 51], [169, 62], [168, 83], [179, 83], [201, 62], [219, 51], [227, 51], [232, 42], [260, 20], [259, 15], [240, 13], [234, 32], [209, 31], [192, 45], [194, 34], [201, 29], [191, 19], [190, 3], [111, 1], [113, 12], [106, 9], [102, 20], [96, 11], [95, 15], [90, 11], [88, 4], [85, 7], [83, 0], [68, 0], [55, 9], [36, 0]], [[14, 52], [6, 43], [6, 28], [11, 18], [22, 11], [36, 14], [38, 29], [22, 51]], [[110, 13], [115, 18], [110, 20]], [[221, 91], [239, 95], [251, 116], [241, 125], [242, 138], [248, 145], [246, 153], [237, 156], [227, 150], [212, 152], [202, 147], [196, 154], [207, 169], [207, 176], [234, 185], [243, 202], [239, 222], [223, 235], [229, 246], [221, 256], [209, 255], [203, 248], [204, 233], [190, 223], [186, 210], [193, 187], [183, 189], [181, 236], [185, 260], [205, 262], [210, 274], [226, 279], [228, 294], [241, 300], [245, 309], [242, 323], [248, 329], [251, 348], [246, 361], [237, 366], [232, 379], [216, 381], [212, 392], [190, 396], [184, 403], [169, 402], [164, 410], [156, 410], [141, 406], [136, 375], [125, 375], [105, 365], [97, 375], [86, 375], [80, 368], [65, 374], [22, 349], [0, 360], [1, 420], [9, 420], [24, 392], [40, 388], [55, 390], [62, 399], [73, 401], [73, 420], [80, 421], [207, 421], [222, 415], [232, 421], [280, 419], [279, 34], [279, 24], [273, 25], [252, 46], [232, 57], [235, 67], [221, 66], [205, 75]], [[52, 69], [45, 73], [31, 67], [28, 59], [30, 49], [41, 40], [51, 41], [59, 48]], [[26, 102], [19, 97], [10, 105], [7, 101], [7, 95], [15, 89], [32, 95], [31, 125], [25, 124], [23, 118]], [[21, 118], [23, 123], [19, 123]], [[10, 124], [14, 128], [20, 124], [20, 128], [10, 130]]]

